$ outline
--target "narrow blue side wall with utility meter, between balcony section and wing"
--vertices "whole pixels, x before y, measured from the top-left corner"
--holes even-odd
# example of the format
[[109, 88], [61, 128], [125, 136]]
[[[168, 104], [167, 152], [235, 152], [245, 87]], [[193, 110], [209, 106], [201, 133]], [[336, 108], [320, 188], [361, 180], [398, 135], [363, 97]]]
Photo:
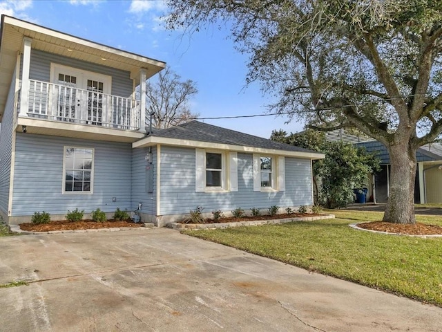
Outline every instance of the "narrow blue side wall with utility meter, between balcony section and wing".
[[[148, 148], [133, 149], [132, 152], [132, 201], [137, 206], [142, 203], [142, 213], [155, 215], [157, 212], [157, 170], [156, 170], [156, 148], [153, 147], [153, 162], [148, 164], [145, 157]], [[146, 167], [153, 167], [153, 192], [146, 192]]]

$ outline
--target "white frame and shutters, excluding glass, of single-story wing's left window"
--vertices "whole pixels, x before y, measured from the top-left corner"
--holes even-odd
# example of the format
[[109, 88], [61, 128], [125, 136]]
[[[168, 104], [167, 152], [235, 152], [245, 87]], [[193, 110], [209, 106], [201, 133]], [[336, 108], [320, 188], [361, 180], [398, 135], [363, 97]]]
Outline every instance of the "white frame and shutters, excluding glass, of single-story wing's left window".
[[[206, 156], [221, 155], [221, 185], [207, 186]], [[195, 149], [195, 192], [238, 192], [238, 154], [235, 151]]]

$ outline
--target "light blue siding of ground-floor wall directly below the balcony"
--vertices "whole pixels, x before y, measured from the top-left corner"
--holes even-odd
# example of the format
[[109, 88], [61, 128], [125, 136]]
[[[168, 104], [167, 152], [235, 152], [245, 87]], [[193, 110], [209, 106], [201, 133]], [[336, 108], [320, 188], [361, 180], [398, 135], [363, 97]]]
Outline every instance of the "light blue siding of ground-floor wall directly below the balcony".
[[[64, 146], [95, 149], [93, 194], [62, 194]], [[135, 210], [131, 203], [132, 147], [128, 143], [102, 142], [17, 133], [12, 216], [45, 210], [116, 208]], [[116, 202], [112, 199], [115, 197]]]

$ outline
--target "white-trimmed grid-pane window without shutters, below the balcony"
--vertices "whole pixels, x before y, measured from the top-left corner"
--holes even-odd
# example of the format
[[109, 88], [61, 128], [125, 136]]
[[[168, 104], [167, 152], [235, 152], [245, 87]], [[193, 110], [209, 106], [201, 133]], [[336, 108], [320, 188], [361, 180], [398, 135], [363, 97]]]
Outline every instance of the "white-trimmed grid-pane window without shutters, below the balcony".
[[64, 147], [63, 193], [93, 193], [94, 149]]

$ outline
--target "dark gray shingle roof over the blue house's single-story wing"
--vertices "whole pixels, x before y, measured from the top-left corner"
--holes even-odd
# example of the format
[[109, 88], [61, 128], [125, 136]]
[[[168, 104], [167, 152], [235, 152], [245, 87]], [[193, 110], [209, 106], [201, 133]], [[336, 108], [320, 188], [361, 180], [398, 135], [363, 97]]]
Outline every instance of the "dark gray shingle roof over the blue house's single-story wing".
[[177, 138], [180, 140], [196, 140], [200, 142], [258, 147], [262, 149], [318, 153], [309, 149], [303, 149], [302, 147], [274, 142], [267, 138], [249, 135], [248, 133], [240, 133], [239, 131], [225, 129], [199, 121], [186, 122], [168, 129], [155, 129], [152, 135], [164, 138]]

